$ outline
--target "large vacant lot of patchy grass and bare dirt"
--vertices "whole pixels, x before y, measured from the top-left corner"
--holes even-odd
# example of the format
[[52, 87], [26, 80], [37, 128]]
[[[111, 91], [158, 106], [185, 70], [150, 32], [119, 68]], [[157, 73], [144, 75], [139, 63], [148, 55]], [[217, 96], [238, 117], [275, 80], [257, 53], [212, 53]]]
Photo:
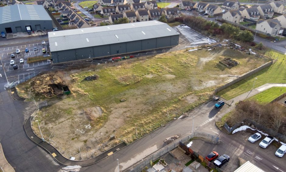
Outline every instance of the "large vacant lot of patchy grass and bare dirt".
[[[218, 64], [225, 58], [240, 64], [225, 68]], [[122, 141], [133, 142], [136, 130], [138, 138], [144, 136], [208, 100], [216, 87], [234, 79], [228, 75], [245, 73], [267, 61], [229, 48], [180, 50], [47, 73], [20, 84], [18, 91], [48, 101], [36, 117], [44, 138], [53, 132], [52, 144], [57, 144], [64, 156], [78, 159], [80, 147], [82, 158], [87, 159]], [[97, 80], [84, 80], [95, 74]], [[51, 91], [51, 85], [60, 84], [68, 84], [70, 97], [43, 96]], [[53, 92], [57, 95], [61, 90]], [[110, 134], [115, 134], [114, 140], [109, 139]]]

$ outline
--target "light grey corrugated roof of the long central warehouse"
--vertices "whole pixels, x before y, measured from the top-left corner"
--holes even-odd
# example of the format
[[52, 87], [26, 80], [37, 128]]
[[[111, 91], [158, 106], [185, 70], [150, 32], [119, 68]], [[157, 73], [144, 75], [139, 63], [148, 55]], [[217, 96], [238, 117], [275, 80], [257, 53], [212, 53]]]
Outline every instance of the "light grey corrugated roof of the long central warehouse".
[[48, 32], [51, 52], [171, 35], [179, 33], [168, 24], [155, 20]]

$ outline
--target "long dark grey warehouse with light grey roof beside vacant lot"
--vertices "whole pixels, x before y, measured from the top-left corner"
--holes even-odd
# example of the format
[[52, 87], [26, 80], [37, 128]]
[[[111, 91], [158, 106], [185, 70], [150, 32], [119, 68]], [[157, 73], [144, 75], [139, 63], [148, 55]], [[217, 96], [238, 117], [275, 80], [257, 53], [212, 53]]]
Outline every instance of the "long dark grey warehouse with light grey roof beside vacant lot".
[[145, 21], [49, 32], [53, 63], [127, 54], [179, 44], [166, 23]]

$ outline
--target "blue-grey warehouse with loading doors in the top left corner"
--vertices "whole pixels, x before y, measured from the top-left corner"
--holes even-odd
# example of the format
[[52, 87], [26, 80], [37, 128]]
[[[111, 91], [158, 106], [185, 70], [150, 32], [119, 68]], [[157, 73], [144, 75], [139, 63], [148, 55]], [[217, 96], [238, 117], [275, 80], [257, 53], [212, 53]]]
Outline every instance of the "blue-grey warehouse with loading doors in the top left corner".
[[5, 34], [31, 31], [50, 30], [52, 19], [43, 5], [10, 5], [0, 7], [0, 31]]

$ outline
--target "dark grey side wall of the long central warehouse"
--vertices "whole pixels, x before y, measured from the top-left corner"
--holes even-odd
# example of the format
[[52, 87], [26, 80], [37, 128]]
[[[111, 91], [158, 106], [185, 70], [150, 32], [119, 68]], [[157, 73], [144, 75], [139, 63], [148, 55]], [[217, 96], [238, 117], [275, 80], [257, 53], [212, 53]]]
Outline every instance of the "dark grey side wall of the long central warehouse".
[[80, 59], [112, 56], [117, 54], [117, 50], [119, 54], [127, 54], [131, 52], [175, 46], [178, 44], [179, 35], [175, 35], [111, 45], [101, 45], [95, 47], [78, 48], [74, 50], [51, 52], [51, 55], [53, 58], [53, 63], [61, 63]]

